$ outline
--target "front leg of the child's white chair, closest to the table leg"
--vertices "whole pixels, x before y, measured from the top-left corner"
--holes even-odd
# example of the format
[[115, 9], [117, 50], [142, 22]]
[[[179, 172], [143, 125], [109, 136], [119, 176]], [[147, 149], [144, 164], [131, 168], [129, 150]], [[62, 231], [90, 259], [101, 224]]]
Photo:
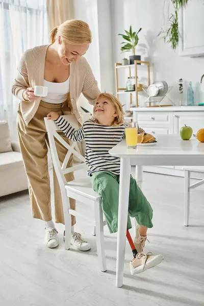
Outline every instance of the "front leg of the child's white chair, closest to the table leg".
[[103, 220], [103, 210], [99, 202], [94, 203], [95, 210], [95, 230], [96, 230], [96, 246], [98, 253], [98, 260], [100, 265], [100, 270], [103, 272], [107, 271], [106, 267], [106, 254], [104, 245], [104, 220]]

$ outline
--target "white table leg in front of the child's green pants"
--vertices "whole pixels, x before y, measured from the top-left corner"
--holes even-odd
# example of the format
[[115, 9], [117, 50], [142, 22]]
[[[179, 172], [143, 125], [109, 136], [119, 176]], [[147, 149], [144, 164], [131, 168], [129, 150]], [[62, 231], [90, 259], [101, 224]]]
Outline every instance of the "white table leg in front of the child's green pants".
[[122, 287], [124, 256], [127, 230], [127, 213], [129, 206], [131, 166], [129, 158], [120, 159], [120, 186], [118, 203], [118, 240], [117, 240], [117, 264], [116, 286]]

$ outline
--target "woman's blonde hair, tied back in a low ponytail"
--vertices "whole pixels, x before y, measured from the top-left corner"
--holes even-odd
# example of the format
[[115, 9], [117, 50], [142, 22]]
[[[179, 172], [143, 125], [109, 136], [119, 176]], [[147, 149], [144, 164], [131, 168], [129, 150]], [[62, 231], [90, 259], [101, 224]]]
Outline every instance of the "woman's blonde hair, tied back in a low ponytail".
[[61, 36], [64, 43], [91, 43], [91, 31], [88, 23], [82, 20], [66, 20], [49, 33], [50, 42], [54, 43]]

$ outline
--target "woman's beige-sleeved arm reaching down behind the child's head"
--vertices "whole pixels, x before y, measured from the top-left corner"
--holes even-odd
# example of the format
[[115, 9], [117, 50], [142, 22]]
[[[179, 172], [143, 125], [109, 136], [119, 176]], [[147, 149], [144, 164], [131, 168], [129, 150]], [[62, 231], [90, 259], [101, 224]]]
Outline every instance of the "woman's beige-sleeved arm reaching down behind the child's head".
[[87, 60], [83, 58], [83, 65], [85, 69], [85, 80], [82, 93], [90, 104], [94, 105], [97, 96], [100, 94], [100, 90], [97, 85], [97, 81], [94, 78], [93, 72]]

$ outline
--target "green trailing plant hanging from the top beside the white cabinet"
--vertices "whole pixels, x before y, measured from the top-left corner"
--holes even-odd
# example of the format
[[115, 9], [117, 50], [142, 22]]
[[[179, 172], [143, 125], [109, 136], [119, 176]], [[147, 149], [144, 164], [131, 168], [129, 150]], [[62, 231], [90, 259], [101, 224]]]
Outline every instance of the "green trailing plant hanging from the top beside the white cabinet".
[[168, 16], [168, 28], [162, 29], [158, 36], [162, 36], [165, 43], [170, 43], [173, 50], [179, 45], [179, 21], [178, 11], [182, 7], [186, 7], [189, 0], [171, 0], [174, 8], [174, 13]]

